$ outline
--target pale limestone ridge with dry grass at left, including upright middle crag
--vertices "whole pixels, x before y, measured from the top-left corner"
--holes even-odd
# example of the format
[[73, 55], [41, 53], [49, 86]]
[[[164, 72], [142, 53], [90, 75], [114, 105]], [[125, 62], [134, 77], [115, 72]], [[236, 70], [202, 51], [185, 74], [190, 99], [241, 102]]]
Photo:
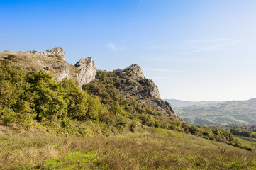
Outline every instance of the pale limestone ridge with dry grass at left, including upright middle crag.
[[61, 47], [39, 52], [37, 50], [27, 52], [0, 52], [0, 60], [10, 60], [14, 65], [26, 70], [44, 70], [54, 74], [56, 81], [72, 79], [78, 81], [79, 86], [94, 80], [96, 67], [91, 57], [82, 58], [77, 64], [65, 62], [65, 52]]

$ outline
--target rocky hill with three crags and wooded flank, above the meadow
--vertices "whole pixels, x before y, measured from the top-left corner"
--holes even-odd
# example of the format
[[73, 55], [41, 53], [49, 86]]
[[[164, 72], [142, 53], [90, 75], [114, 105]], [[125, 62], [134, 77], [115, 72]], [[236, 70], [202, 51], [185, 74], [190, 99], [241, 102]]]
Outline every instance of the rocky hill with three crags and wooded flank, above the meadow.
[[48, 132], [68, 135], [134, 132], [142, 124], [184, 130], [137, 64], [96, 73], [91, 57], [72, 65], [64, 56], [61, 47], [0, 52], [1, 125], [32, 129], [36, 120]]

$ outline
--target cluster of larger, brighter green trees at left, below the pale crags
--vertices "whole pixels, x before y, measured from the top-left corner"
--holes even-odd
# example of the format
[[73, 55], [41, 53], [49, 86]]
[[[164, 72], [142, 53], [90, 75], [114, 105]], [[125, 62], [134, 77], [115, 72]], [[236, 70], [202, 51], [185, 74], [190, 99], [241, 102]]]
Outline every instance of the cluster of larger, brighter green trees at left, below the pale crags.
[[[103, 134], [128, 129], [128, 115], [117, 101], [106, 106], [98, 96], [81, 90], [77, 82], [67, 79], [56, 82], [51, 74], [42, 70], [25, 72], [10, 65], [7, 60], [0, 64], [1, 124], [16, 123], [29, 128], [33, 120], [37, 120], [45, 126], [57, 123], [57, 129], [69, 127], [69, 120], [77, 120], [99, 125], [102, 128], [99, 133]], [[82, 127], [81, 123], [78, 125]], [[72, 125], [74, 129], [74, 123]], [[78, 131], [84, 134], [83, 130]]]

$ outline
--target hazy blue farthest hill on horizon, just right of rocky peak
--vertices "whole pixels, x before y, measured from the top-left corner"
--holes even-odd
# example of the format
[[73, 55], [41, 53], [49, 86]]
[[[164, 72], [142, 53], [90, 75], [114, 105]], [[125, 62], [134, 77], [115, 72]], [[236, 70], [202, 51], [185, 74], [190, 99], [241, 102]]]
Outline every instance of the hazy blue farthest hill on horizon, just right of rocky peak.
[[206, 104], [216, 104], [216, 103], [223, 103], [226, 101], [181, 101], [176, 99], [165, 99], [165, 101], [168, 101], [169, 103], [172, 103], [172, 107], [174, 108], [182, 108], [187, 106], [200, 106], [200, 105], [206, 105]]

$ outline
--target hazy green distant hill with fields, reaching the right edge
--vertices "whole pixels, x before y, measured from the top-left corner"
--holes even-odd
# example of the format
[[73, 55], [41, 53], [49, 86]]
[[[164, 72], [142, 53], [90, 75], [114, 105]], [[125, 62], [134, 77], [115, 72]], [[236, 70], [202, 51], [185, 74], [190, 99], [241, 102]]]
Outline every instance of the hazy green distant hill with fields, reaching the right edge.
[[256, 98], [175, 108], [184, 121], [199, 125], [256, 124]]

